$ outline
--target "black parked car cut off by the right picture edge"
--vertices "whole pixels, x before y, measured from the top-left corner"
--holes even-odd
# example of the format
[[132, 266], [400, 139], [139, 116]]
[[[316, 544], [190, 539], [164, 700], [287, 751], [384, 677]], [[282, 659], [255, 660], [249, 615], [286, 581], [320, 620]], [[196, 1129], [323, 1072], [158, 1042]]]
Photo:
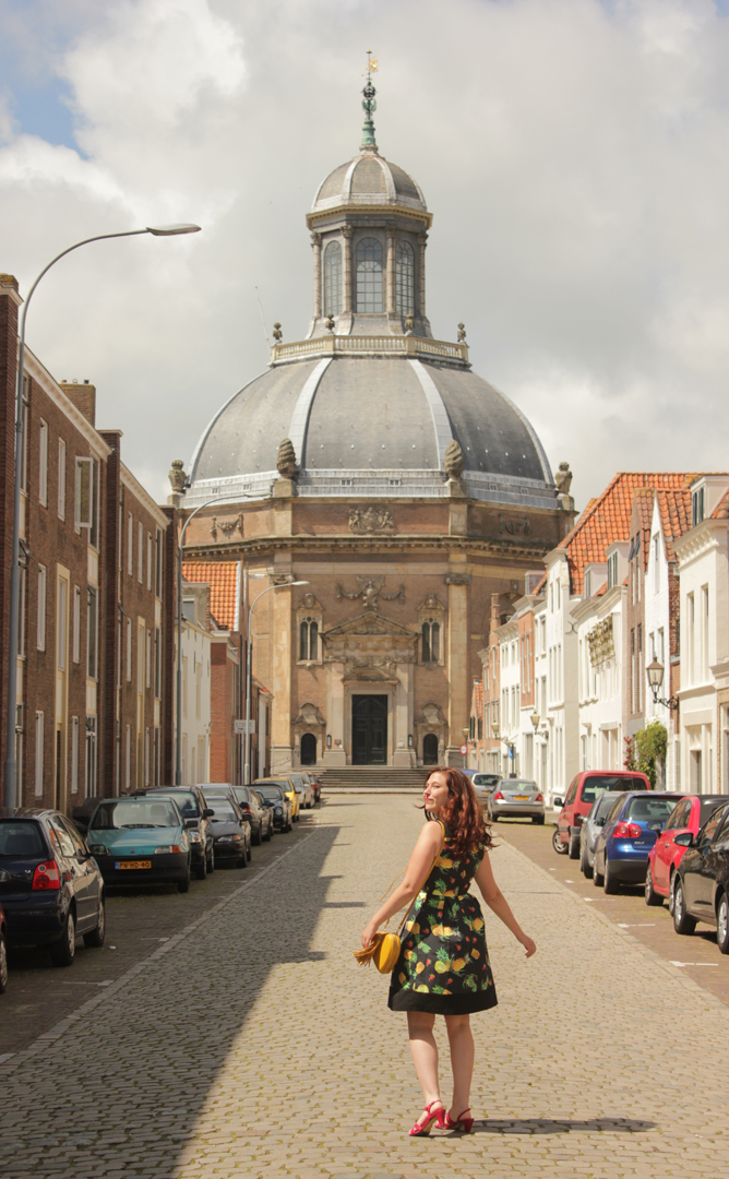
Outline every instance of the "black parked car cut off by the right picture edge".
[[692, 934], [702, 921], [729, 954], [729, 805], [715, 810], [697, 835], [685, 831], [676, 842], [685, 855], [674, 874], [674, 929]]

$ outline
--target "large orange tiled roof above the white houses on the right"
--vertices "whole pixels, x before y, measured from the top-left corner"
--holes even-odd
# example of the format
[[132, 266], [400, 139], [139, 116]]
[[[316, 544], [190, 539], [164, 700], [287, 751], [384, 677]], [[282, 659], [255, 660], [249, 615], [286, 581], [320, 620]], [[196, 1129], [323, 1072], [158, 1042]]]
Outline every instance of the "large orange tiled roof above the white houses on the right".
[[[602, 495], [590, 501], [579, 520], [558, 548], [566, 549], [572, 593], [583, 593], [584, 567], [607, 560], [607, 551], [616, 540], [629, 540], [634, 492], [652, 488], [656, 492], [688, 488], [695, 474], [676, 472], [619, 472]], [[652, 501], [651, 501], [652, 502]]]

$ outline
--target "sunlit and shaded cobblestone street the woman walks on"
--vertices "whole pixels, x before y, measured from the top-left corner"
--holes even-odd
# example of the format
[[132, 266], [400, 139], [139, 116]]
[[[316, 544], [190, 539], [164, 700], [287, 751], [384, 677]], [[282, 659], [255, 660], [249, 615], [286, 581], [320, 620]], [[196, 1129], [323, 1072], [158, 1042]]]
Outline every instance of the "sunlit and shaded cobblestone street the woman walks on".
[[407, 797], [331, 797], [256, 878], [6, 1060], [0, 1172], [723, 1174], [729, 1010], [506, 843], [496, 876], [538, 954], [488, 914], [501, 1001], [473, 1017], [476, 1133], [407, 1138], [405, 1017], [351, 951], [420, 822]]

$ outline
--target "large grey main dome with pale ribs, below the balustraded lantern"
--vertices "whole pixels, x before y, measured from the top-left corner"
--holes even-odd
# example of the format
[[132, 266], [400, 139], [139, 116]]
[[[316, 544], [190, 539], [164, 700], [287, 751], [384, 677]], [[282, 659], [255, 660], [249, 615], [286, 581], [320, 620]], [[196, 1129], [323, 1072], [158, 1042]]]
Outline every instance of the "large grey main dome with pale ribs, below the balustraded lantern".
[[[517, 407], [465, 368], [400, 357], [325, 357], [274, 365], [210, 423], [193, 483], [276, 475], [281, 439], [301, 474], [438, 473], [455, 439], [470, 474], [551, 485], [539, 440]], [[347, 494], [339, 487], [331, 494]], [[322, 494], [322, 493], [319, 493]]]

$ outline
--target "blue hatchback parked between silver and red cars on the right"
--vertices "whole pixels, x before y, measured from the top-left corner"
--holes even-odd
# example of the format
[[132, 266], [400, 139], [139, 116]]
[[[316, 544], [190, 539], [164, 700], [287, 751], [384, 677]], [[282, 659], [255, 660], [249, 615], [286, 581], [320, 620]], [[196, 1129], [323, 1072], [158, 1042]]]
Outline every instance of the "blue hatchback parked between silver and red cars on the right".
[[605, 893], [644, 884], [648, 852], [682, 795], [629, 791], [618, 795], [595, 843], [592, 883]]

